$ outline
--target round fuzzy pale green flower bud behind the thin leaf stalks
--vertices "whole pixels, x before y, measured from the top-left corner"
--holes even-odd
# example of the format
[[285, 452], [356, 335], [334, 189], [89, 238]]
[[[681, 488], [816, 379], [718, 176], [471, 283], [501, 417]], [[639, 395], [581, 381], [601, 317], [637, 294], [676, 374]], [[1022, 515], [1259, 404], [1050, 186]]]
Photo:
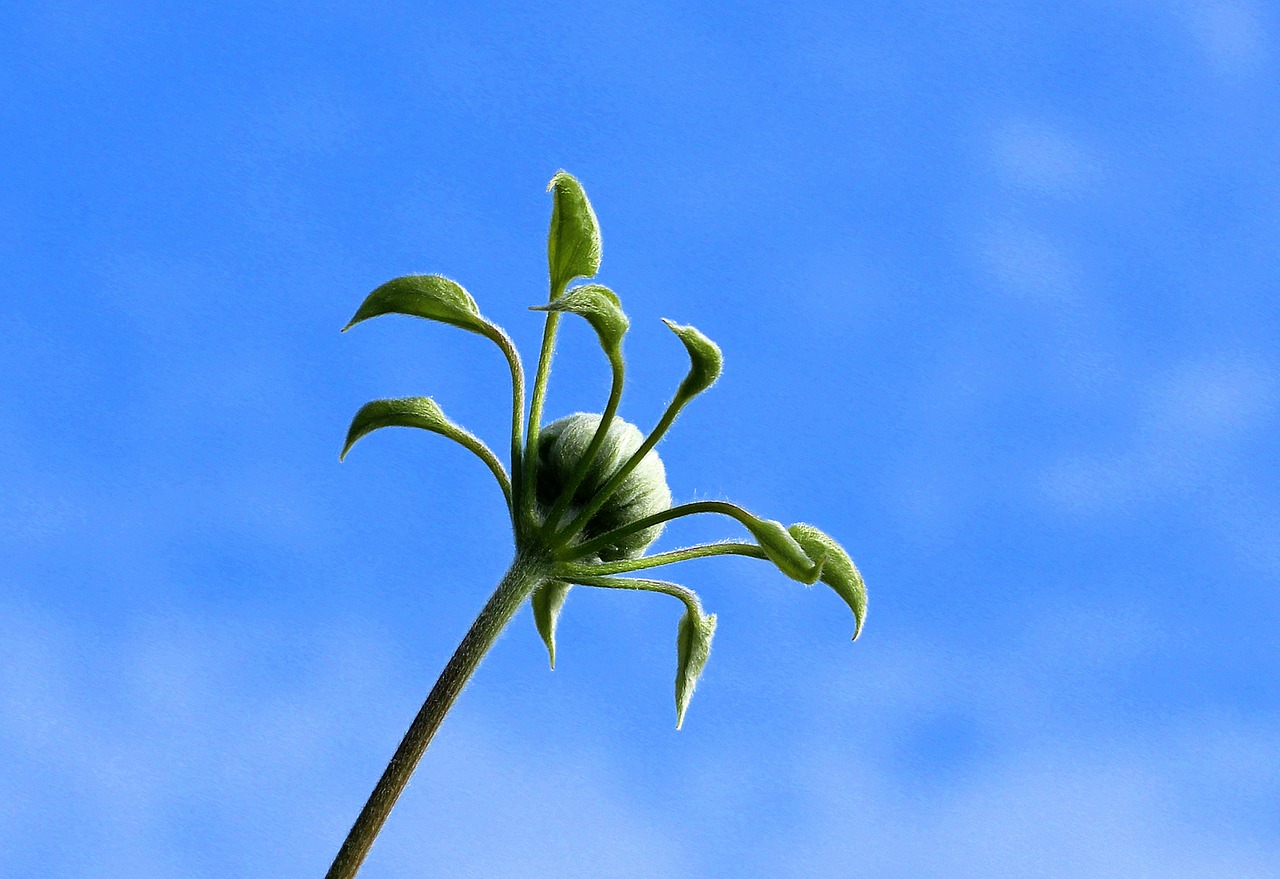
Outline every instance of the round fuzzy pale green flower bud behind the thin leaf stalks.
[[[600, 425], [599, 415], [577, 412], [547, 425], [538, 441], [538, 504], [549, 509], [559, 498], [570, 479], [577, 472], [579, 463], [586, 453]], [[617, 473], [631, 455], [640, 449], [644, 435], [622, 418], [613, 418], [604, 435], [590, 467], [568, 507], [568, 518], [576, 516]], [[639, 466], [627, 473], [609, 500], [586, 521], [576, 535], [575, 542], [582, 542], [614, 528], [636, 522], [646, 516], [659, 513], [671, 507], [671, 489], [667, 486], [667, 471], [657, 452], [649, 450]], [[639, 558], [658, 535], [662, 525], [654, 525], [620, 539], [616, 544], [603, 548], [599, 558], [604, 562]]]

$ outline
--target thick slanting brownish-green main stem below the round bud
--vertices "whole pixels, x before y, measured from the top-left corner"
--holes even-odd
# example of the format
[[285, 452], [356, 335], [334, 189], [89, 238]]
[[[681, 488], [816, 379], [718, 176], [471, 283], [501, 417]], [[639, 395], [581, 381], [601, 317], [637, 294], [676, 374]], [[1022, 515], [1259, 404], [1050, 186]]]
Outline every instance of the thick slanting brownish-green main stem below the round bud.
[[440, 673], [435, 686], [431, 687], [426, 702], [422, 704], [408, 732], [401, 741], [399, 747], [392, 756], [378, 786], [360, 811], [360, 818], [352, 825], [346, 842], [338, 850], [325, 879], [352, 879], [365, 856], [374, 844], [378, 832], [383, 829], [387, 816], [396, 805], [396, 800], [408, 784], [410, 775], [413, 774], [417, 761], [422, 759], [422, 752], [440, 728], [440, 722], [452, 708], [462, 687], [480, 667], [480, 660], [494, 645], [502, 630], [506, 628], [516, 610], [529, 598], [536, 586], [548, 577], [549, 566], [544, 559], [529, 558], [517, 554], [507, 571], [498, 589], [489, 596], [480, 615], [471, 624], [463, 636], [458, 649], [453, 651], [448, 665]]

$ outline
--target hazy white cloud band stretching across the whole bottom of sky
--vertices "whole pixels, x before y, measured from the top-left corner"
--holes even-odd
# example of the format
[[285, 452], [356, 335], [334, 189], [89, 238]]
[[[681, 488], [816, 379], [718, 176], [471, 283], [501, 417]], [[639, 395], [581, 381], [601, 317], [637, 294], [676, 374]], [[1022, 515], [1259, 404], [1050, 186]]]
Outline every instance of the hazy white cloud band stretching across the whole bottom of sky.
[[[470, 700], [370, 875], [639, 878], [735, 850], [744, 876], [1267, 875], [1280, 851], [1238, 812], [1280, 792], [1280, 718], [1144, 725], [1105, 706], [1080, 723], [1071, 692], [1146, 661], [1158, 632], [1140, 608], [1105, 631], [1042, 610], [987, 654], [867, 642], [861, 661], [788, 691], [785, 738], [746, 731], [689, 755], [698, 769], [660, 801], [628, 789], [644, 772], [626, 765], [631, 745], [589, 725], [557, 743]], [[100, 644], [27, 609], [0, 619], [0, 844], [56, 847], [41, 864], [63, 876], [319, 873], [422, 683], [355, 621], [289, 632], [163, 617]], [[1059, 619], [1098, 644], [1064, 647]], [[904, 772], [938, 713], [980, 747], [936, 777]]]

